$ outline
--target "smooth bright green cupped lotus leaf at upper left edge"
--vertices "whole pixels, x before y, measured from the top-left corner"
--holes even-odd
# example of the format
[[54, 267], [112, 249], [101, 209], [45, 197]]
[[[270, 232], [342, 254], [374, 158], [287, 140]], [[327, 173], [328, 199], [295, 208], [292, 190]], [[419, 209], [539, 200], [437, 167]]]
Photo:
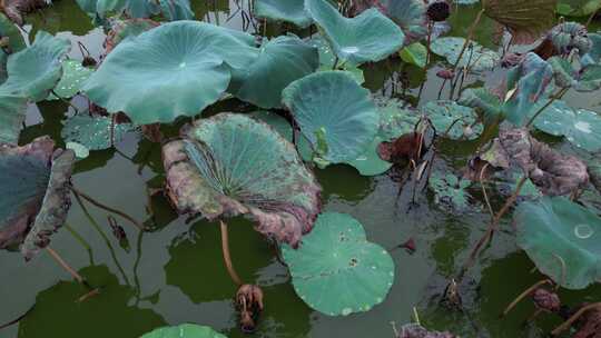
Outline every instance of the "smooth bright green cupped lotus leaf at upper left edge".
[[33, 44], [9, 56], [2, 87], [33, 101], [46, 99], [62, 74], [61, 61], [70, 48], [69, 40], [39, 31]]

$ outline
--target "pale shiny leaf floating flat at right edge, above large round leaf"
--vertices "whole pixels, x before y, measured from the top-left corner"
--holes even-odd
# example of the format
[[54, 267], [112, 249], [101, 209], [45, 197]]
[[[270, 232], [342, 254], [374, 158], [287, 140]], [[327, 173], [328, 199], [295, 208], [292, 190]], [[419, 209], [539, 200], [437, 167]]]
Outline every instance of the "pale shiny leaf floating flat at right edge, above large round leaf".
[[546, 133], [563, 136], [584, 150], [601, 150], [601, 116], [594, 111], [577, 110], [564, 101], [555, 101], [534, 120], [534, 126]]

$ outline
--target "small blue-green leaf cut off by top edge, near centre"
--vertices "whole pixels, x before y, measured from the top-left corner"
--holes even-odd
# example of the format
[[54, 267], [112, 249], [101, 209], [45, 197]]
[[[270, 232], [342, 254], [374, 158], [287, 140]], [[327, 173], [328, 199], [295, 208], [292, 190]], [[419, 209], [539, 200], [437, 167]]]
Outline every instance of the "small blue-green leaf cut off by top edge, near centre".
[[306, 28], [313, 23], [313, 19], [305, 11], [304, 0], [256, 0], [255, 16], [292, 22], [300, 28]]

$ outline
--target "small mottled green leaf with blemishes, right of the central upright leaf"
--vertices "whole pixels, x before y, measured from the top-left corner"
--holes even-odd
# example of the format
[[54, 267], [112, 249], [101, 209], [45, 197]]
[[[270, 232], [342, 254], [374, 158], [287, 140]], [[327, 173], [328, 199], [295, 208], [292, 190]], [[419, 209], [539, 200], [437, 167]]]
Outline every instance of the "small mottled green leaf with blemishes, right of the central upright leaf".
[[453, 140], [474, 140], [484, 130], [482, 123], [477, 122], [475, 111], [455, 101], [430, 101], [422, 107], [422, 111], [430, 117], [440, 136], [446, 136]]

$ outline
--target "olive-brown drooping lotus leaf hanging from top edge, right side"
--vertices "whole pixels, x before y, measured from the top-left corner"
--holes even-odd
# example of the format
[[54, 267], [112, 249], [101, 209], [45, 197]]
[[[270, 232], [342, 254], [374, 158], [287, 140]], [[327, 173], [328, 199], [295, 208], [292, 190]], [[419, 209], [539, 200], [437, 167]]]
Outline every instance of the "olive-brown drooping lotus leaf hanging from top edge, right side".
[[503, 24], [514, 43], [532, 43], [555, 22], [558, 0], [483, 0], [484, 14]]

